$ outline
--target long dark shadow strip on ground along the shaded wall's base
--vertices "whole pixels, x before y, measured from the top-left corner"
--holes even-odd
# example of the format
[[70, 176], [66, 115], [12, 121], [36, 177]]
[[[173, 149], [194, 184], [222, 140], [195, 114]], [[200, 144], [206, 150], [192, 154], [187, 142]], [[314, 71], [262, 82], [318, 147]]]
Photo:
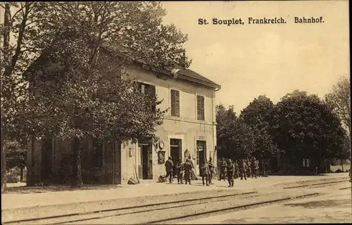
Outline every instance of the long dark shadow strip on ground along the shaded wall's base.
[[112, 190], [116, 188], [123, 188], [124, 186], [97, 186], [87, 185], [82, 188], [72, 188], [70, 186], [45, 186], [45, 187], [8, 187], [6, 193], [15, 194], [30, 194], [30, 193], [46, 193], [55, 191], [78, 191], [78, 190]]

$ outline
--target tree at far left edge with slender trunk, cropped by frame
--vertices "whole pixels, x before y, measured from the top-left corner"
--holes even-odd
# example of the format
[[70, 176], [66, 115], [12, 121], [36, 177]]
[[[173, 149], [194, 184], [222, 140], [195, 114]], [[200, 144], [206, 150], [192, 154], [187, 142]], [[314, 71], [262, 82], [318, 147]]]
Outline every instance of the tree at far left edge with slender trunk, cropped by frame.
[[[46, 31], [37, 28], [42, 22], [45, 3], [2, 3], [4, 24], [1, 24], [1, 192], [6, 187], [4, 145], [9, 133], [15, 133], [19, 112], [27, 103], [27, 80], [22, 76], [42, 49], [46, 47]], [[11, 14], [13, 9], [13, 14]], [[13, 39], [13, 41], [11, 41]]]

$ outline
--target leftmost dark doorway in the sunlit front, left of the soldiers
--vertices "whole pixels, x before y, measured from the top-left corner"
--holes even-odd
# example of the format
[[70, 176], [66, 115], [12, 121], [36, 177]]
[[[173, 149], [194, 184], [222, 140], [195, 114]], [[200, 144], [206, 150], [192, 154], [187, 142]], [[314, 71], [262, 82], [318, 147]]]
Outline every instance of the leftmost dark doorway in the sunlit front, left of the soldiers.
[[142, 179], [153, 179], [153, 150], [150, 144], [141, 144]]

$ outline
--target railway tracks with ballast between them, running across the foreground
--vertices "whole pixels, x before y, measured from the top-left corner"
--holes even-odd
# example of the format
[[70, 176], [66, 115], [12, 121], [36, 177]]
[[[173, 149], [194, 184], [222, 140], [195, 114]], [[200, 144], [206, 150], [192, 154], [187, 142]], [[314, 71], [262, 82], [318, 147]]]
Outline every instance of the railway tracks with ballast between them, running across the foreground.
[[[258, 193], [256, 191], [230, 193], [204, 198], [174, 200], [147, 205], [115, 207], [91, 212], [62, 214], [51, 217], [3, 221], [2, 224], [101, 224], [99, 221], [106, 221], [106, 219], [110, 219], [111, 223], [114, 223], [115, 221], [115, 224], [121, 224], [121, 221], [123, 221], [124, 224], [175, 224], [179, 221], [196, 219], [197, 217], [246, 210], [251, 207], [281, 203], [296, 198], [309, 198], [318, 195], [319, 193], [302, 193], [301, 195], [291, 196], [287, 195], [287, 193], [296, 193], [295, 191], [289, 191], [294, 188], [302, 188], [304, 191], [306, 187], [318, 188], [319, 186], [322, 186], [324, 188], [325, 186], [336, 185], [344, 181], [345, 180], [329, 181], [318, 184], [284, 187], [282, 190], [288, 189], [288, 192], [284, 191], [282, 193], [270, 191], [267, 191], [266, 193]], [[175, 214], [173, 217], [168, 216], [171, 215], [173, 211], [175, 212], [175, 208], [179, 211], [178, 214]], [[134, 215], [142, 218], [143, 221], [135, 221]]]

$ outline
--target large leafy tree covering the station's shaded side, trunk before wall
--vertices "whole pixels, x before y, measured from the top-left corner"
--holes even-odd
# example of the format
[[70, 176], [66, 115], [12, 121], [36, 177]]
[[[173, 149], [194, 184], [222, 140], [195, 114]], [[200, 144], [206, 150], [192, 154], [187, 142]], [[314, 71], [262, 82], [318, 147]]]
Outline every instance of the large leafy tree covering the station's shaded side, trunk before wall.
[[[73, 139], [73, 186], [82, 186], [83, 139], [125, 141], [154, 135], [164, 111], [155, 93], [142, 94], [123, 65], [165, 69], [184, 61], [187, 36], [161, 25], [160, 3], [59, 3], [46, 8], [44, 30], [54, 41], [27, 74], [34, 115], [52, 135]], [[39, 110], [38, 110], [39, 109]], [[40, 128], [40, 127], [39, 127]], [[44, 132], [39, 132], [43, 134]]]

